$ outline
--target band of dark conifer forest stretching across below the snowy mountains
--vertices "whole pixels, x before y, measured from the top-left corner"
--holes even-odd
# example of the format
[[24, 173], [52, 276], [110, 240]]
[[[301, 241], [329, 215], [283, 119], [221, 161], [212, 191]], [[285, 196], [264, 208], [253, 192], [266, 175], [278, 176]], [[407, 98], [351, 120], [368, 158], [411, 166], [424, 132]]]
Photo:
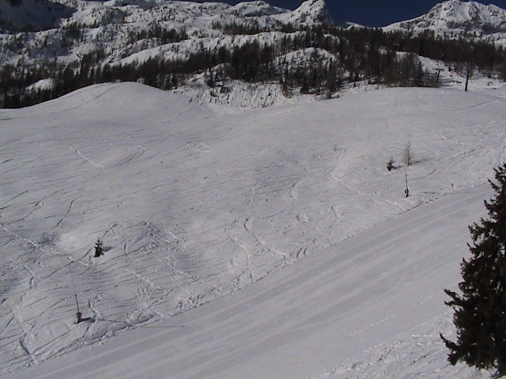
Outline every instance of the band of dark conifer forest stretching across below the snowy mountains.
[[[225, 26], [215, 24], [215, 27]], [[230, 29], [236, 28], [234, 24]], [[273, 26], [274, 28], [275, 26]], [[293, 26], [277, 26], [284, 31]], [[247, 28], [241, 26], [242, 29]], [[248, 30], [242, 30], [249, 34]], [[258, 32], [251, 24], [250, 33]], [[188, 38], [184, 31], [165, 30], [156, 25], [131, 34], [130, 39], [157, 38], [160, 43]], [[307, 51], [308, 57], [293, 60], [290, 53]], [[482, 72], [501, 73], [506, 79], [506, 55], [500, 46], [463, 39], [445, 39], [433, 32], [406, 34], [381, 29], [319, 25], [287, 32], [273, 43], [252, 40], [242, 45], [200, 49], [185, 59], [153, 57], [144, 62], [104, 64], [106, 53], [97, 48], [78, 62], [56, 61], [35, 67], [0, 67], [0, 106], [17, 108], [59, 97], [77, 88], [101, 82], [139, 81], [161, 89], [175, 88], [195, 73], [206, 73], [209, 84], [226, 80], [279, 82], [286, 94], [329, 96], [345, 83], [368, 80], [388, 86], [435, 84], [434, 73], [424, 72], [418, 56], [443, 61], [464, 72], [469, 67]], [[330, 58], [329, 58], [330, 57]], [[26, 87], [44, 78], [54, 86], [27, 91]]]

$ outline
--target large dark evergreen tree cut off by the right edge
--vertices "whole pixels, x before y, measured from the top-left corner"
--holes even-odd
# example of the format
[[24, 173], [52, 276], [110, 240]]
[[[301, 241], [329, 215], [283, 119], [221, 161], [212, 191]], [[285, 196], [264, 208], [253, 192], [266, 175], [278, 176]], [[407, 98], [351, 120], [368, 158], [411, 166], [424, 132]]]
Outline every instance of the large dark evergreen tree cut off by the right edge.
[[496, 195], [485, 201], [489, 218], [469, 227], [472, 257], [461, 263], [462, 295], [444, 290], [451, 297], [457, 341], [445, 339], [448, 361], [464, 361], [477, 368], [495, 368], [506, 374], [506, 163], [494, 169], [489, 180]]

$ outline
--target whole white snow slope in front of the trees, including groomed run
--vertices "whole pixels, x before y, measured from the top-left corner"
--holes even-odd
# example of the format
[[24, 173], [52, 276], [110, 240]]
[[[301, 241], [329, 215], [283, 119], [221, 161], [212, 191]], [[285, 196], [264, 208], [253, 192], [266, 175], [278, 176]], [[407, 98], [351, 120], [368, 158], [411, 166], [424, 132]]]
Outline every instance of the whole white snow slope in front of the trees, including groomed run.
[[229, 114], [114, 83], [0, 110], [1, 372], [487, 377], [438, 335], [505, 105], [392, 88]]

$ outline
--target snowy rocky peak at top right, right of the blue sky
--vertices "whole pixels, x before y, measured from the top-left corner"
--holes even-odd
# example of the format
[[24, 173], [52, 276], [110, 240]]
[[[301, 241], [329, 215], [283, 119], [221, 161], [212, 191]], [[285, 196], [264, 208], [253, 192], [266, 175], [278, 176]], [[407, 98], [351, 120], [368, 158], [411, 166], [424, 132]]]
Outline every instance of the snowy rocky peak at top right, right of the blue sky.
[[426, 30], [451, 38], [480, 38], [506, 45], [506, 10], [493, 4], [449, 0], [437, 4], [426, 15], [383, 28], [415, 33]]

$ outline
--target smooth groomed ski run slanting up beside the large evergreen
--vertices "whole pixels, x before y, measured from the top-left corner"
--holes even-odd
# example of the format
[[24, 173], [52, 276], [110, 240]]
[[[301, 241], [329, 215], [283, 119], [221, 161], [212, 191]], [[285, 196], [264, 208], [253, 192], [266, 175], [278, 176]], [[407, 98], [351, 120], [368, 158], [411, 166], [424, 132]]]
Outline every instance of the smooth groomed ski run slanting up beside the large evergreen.
[[[490, 195], [486, 185], [448, 195], [231, 296], [9, 377], [310, 378], [325, 369], [336, 374], [331, 367], [447, 313], [442, 288], [457, 281], [467, 226], [483, 213], [482, 200]], [[444, 363], [442, 344], [439, 350]], [[423, 360], [424, 353], [420, 346], [415, 357]], [[403, 377], [402, 370], [389, 377]]]

